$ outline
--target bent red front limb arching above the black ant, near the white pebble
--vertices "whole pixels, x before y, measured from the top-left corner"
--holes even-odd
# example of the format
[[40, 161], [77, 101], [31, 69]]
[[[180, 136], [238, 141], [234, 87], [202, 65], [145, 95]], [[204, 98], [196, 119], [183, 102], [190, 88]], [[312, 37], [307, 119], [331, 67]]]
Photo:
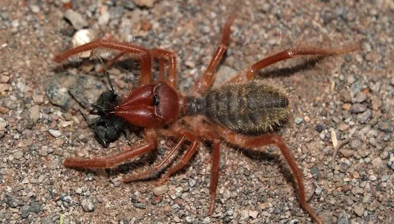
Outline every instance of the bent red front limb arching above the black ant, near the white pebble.
[[150, 83], [151, 81], [151, 76], [152, 76], [152, 62], [151, 62], [151, 56], [149, 53], [149, 50], [140, 47], [137, 45], [133, 45], [128, 42], [120, 42], [114, 39], [96, 39], [93, 40], [92, 42], [85, 43], [81, 46], [68, 49], [65, 52], [56, 55], [53, 60], [55, 62], [61, 62], [66, 60], [72, 55], [82, 53], [88, 50], [93, 50], [99, 47], [103, 48], [109, 48], [109, 49], [114, 49], [114, 50], [120, 50], [120, 51], [125, 51], [127, 53], [131, 54], [138, 54], [139, 55], [139, 61], [141, 64], [141, 69], [140, 69], [140, 83], [141, 85], [145, 85]]

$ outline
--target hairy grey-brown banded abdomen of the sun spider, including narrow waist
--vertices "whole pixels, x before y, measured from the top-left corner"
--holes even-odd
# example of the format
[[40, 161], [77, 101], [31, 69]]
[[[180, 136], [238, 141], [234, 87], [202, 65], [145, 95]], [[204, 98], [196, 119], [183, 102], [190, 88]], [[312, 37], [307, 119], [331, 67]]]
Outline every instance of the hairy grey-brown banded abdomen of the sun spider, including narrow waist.
[[205, 98], [188, 99], [188, 113], [204, 114], [238, 132], [267, 131], [289, 116], [288, 98], [282, 87], [262, 81], [230, 84], [210, 90]]

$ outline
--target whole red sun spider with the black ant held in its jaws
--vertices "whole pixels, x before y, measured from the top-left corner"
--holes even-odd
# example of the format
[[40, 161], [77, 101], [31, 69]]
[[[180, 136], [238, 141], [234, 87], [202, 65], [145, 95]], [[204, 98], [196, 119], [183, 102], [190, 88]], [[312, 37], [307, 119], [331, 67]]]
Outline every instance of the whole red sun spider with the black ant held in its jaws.
[[[236, 75], [227, 84], [211, 89], [215, 68], [224, 55], [230, 41], [230, 26], [235, 19], [231, 15], [224, 28], [223, 37], [213, 58], [202, 77], [196, 81], [190, 93], [182, 95], [176, 90], [176, 58], [175, 54], [163, 49], [148, 50], [128, 42], [112, 38], [100, 38], [82, 46], [72, 48], [55, 56], [56, 62], [63, 61], [72, 55], [96, 48], [109, 48], [121, 51], [108, 65], [127, 54], [139, 54], [140, 87], [117, 102], [113, 89], [100, 96], [98, 106], [101, 118], [94, 128], [96, 136], [104, 146], [119, 137], [117, 131], [121, 126], [114, 125], [121, 118], [129, 125], [144, 128], [144, 142], [131, 149], [103, 157], [91, 159], [66, 158], [64, 165], [79, 168], [106, 168], [122, 163], [127, 159], [149, 152], [156, 148], [158, 136], [171, 137], [178, 140], [164, 157], [163, 161], [148, 171], [132, 174], [123, 179], [131, 182], [149, 177], [163, 168], [164, 163], [183, 144], [189, 144], [180, 161], [171, 167], [161, 178], [167, 180], [182, 169], [200, 146], [200, 140], [212, 143], [212, 175], [210, 180], [209, 214], [214, 212], [216, 187], [218, 183], [220, 145], [225, 141], [232, 146], [247, 150], [263, 150], [263, 146], [275, 145], [289, 164], [297, 182], [299, 202], [302, 208], [316, 222], [322, 222], [308, 205], [305, 198], [305, 187], [302, 173], [298, 169], [292, 152], [285, 141], [277, 134], [249, 136], [239, 133], [264, 132], [272, 125], [281, 123], [290, 115], [288, 93], [281, 87], [262, 81], [252, 81], [258, 71], [274, 63], [300, 55], [335, 55], [354, 51], [357, 47], [323, 49], [318, 47], [296, 47], [276, 53], [252, 65], [244, 73]], [[159, 80], [151, 83], [151, 61], [159, 59]], [[164, 79], [164, 60], [168, 61], [168, 78]], [[114, 103], [117, 102], [117, 103]], [[114, 120], [112, 120], [114, 119]], [[116, 121], [115, 121], [116, 120]]]

